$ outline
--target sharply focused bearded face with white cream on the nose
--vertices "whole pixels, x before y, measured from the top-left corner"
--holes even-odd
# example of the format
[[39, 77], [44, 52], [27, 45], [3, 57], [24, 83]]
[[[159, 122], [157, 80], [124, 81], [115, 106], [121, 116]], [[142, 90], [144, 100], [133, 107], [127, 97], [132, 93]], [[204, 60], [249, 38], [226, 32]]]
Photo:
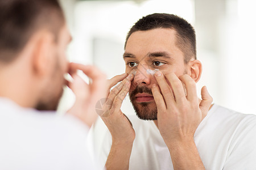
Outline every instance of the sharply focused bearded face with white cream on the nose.
[[[158, 84], [155, 76], [147, 70], [159, 69], [163, 74], [186, 73], [184, 54], [176, 46], [174, 29], [158, 28], [137, 31], [127, 40], [123, 58], [126, 73], [135, 70], [129, 96], [137, 116], [143, 120], [157, 120], [157, 108], [152, 96], [152, 84]], [[149, 71], [149, 70], [148, 70]]]

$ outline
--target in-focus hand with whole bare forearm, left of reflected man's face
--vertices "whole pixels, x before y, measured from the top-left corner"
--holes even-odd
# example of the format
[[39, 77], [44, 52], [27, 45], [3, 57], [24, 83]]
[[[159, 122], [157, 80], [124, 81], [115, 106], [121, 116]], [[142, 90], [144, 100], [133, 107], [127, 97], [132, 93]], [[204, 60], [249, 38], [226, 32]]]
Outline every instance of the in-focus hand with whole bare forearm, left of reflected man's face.
[[[108, 81], [107, 99], [100, 115], [112, 135], [112, 146], [106, 161], [107, 170], [129, 169], [135, 131], [125, 114], [122, 113], [121, 105], [129, 92], [133, 78], [133, 74], [128, 76], [122, 74], [114, 76]], [[120, 81], [122, 82], [110, 91]]]

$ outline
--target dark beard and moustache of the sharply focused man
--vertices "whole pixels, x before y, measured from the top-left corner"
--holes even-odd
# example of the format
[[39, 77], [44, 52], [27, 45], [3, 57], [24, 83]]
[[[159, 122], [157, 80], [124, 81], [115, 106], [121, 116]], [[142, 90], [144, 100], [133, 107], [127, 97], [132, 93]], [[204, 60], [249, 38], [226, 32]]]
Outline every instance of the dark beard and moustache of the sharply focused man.
[[154, 101], [137, 103], [135, 95], [139, 93], [152, 95], [151, 89], [146, 86], [137, 86], [135, 90], [129, 92], [130, 101], [131, 104], [133, 104], [135, 113], [141, 120], [157, 120], [158, 109], [156, 108]]

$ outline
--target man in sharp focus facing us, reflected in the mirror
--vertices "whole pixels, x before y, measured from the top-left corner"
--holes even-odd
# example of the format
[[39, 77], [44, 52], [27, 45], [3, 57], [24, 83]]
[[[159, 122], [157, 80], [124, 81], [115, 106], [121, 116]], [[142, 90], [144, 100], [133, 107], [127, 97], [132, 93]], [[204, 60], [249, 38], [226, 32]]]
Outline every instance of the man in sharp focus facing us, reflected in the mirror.
[[[130, 75], [110, 80], [109, 88], [122, 83], [101, 115], [111, 134], [101, 134], [98, 147], [107, 169], [256, 169], [256, 117], [211, 105], [206, 87], [197, 98], [202, 69], [191, 24], [171, 14], [143, 17], [123, 59]], [[120, 109], [128, 92], [141, 119], [129, 117], [132, 125]]]

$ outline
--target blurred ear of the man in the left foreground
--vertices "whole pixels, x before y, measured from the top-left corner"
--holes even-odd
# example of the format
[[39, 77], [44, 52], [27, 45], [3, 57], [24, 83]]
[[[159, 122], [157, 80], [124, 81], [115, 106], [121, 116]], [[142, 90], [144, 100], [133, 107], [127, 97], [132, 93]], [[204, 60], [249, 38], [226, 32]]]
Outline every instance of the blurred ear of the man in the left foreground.
[[41, 31], [36, 33], [31, 41], [31, 44], [34, 44], [32, 70], [36, 75], [45, 75], [51, 63], [52, 54], [54, 54], [54, 37], [52, 33], [48, 31]]

